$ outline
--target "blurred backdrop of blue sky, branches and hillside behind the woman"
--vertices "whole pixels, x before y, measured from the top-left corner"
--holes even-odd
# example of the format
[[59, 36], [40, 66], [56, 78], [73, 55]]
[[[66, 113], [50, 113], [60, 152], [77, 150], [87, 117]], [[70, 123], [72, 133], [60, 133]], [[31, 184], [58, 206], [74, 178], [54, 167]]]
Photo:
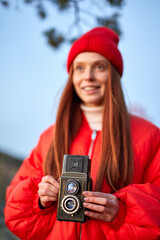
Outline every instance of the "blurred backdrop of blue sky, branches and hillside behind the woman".
[[120, 36], [130, 112], [160, 127], [159, 0], [0, 0], [0, 239], [5, 189], [55, 121], [71, 43], [98, 25]]

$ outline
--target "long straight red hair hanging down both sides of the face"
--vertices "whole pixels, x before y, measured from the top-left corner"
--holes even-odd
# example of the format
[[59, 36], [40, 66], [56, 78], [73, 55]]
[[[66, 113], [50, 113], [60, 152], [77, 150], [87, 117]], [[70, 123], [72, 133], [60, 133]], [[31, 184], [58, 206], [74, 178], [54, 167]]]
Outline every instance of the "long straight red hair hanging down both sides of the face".
[[[104, 96], [101, 159], [94, 190], [100, 191], [105, 176], [114, 192], [132, 182], [133, 153], [130, 119], [120, 75], [110, 62], [108, 73]], [[74, 90], [72, 76], [71, 66], [69, 80], [62, 93], [57, 112], [54, 140], [43, 166], [44, 174], [52, 175], [56, 179], [61, 175], [63, 155], [68, 154], [69, 146], [82, 121], [81, 100]]]

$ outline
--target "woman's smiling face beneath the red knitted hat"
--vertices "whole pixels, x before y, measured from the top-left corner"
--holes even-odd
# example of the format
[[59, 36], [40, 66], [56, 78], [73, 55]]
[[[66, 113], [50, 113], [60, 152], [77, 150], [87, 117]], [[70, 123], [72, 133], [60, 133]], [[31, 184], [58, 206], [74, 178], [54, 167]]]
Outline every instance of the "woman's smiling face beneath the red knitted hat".
[[103, 105], [107, 81], [108, 60], [104, 56], [94, 52], [77, 55], [73, 62], [73, 85], [85, 105]]

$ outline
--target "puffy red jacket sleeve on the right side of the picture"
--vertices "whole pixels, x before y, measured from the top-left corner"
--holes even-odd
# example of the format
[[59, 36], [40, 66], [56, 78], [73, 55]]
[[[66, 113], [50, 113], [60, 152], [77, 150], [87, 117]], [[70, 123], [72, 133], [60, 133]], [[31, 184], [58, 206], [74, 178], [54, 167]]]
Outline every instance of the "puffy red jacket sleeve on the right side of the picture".
[[[141, 145], [141, 147], [140, 147]], [[144, 171], [141, 182], [117, 191], [120, 209], [111, 223], [101, 221], [106, 239], [160, 239], [160, 132], [138, 146]], [[142, 146], [143, 145], [143, 146]], [[142, 151], [143, 149], [143, 151]], [[136, 168], [136, 171], [140, 171]]]

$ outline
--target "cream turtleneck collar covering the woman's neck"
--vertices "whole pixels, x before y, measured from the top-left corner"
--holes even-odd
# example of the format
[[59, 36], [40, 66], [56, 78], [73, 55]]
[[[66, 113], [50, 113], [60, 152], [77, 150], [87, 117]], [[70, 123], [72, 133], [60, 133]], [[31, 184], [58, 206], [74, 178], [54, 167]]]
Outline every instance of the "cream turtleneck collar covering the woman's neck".
[[80, 105], [82, 112], [84, 113], [88, 124], [92, 130], [102, 129], [102, 116], [103, 116], [103, 106], [88, 107], [83, 103]]

